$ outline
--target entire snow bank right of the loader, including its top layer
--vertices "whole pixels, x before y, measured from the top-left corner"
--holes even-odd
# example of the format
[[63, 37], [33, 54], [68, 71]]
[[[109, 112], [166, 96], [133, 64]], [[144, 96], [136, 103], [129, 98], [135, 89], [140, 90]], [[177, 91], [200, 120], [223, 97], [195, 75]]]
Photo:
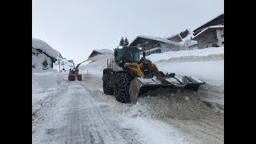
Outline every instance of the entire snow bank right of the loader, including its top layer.
[[181, 76], [192, 76], [206, 82], [199, 87], [203, 101], [224, 105], [224, 47], [201, 50], [170, 51], [148, 56], [158, 70]]

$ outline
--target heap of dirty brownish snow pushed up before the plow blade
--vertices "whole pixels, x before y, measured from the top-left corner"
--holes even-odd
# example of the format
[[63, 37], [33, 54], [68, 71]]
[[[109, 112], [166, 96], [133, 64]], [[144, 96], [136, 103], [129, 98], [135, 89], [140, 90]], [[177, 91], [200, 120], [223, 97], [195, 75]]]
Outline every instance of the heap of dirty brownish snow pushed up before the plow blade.
[[209, 114], [222, 113], [222, 111], [214, 111], [205, 102], [200, 101], [198, 94], [194, 92], [165, 93], [167, 93], [165, 90], [158, 89], [149, 92], [146, 97], [140, 97], [138, 103], [132, 106], [128, 114], [132, 117], [195, 120], [207, 118]]

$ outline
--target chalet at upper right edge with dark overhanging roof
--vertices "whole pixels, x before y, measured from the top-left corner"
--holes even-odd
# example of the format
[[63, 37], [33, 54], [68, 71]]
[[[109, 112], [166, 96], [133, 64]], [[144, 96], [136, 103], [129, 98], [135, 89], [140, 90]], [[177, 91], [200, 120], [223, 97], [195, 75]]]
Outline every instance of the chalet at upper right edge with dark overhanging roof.
[[199, 26], [194, 32], [195, 41], [198, 41], [198, 48], [224, 46], [224, 14]]

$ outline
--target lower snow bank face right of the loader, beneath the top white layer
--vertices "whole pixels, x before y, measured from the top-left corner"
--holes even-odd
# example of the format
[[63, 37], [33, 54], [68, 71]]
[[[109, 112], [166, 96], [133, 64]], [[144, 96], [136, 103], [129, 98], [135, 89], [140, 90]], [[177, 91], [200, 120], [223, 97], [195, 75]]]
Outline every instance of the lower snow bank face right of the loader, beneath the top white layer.
[[200, 98], [224, 105], [224, 54], [170, 58], [154, 63], [165, 74], [175, 73], [201, 79], [206, 84], [199, 87]]

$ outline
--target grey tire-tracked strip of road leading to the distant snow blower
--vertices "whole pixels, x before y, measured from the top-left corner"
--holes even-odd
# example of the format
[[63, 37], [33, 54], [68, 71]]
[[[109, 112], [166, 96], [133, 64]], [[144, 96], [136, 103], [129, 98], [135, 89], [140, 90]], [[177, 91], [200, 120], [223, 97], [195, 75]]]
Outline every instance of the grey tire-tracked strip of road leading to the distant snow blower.
[[78, 82], [70, 82], [63, 106], [48, 118], [33, 143], [141, 143], [132, 129], [123, 129], [110, 106], [90, 95]]

